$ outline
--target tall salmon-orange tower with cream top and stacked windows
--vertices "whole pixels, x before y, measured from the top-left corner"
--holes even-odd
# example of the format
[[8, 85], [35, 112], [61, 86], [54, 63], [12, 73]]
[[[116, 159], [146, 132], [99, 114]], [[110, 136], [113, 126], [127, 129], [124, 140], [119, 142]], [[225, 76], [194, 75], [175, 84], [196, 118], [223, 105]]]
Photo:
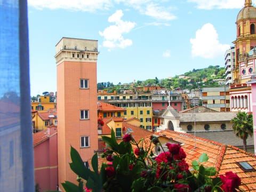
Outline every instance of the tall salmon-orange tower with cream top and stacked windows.
[[[98, 41], [63, 37], [55, 46], [58, 104], [58, 177], [76, 182], [70, 146], [86, 162], [98, 150]], [[62, 189], [63, 190], [63, 189]]]

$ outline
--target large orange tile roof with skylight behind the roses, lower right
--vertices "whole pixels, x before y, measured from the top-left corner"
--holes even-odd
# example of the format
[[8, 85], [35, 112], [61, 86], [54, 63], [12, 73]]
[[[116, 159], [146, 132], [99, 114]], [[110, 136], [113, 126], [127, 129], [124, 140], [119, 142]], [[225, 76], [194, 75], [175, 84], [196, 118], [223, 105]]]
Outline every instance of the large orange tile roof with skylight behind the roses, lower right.
[[[242, 180], [240, 189], [243, 191], [256, 191], [256, 157], [253, 154], [234, 146], [224, 145], [199, 137], [195, 138], [193, 135], [186, 133], [164, 130], [155, 134], [164, 135], [167, 138], [183, 143], [182, 148], [187, 154], [186, 161], [190, 168], [193, 160], [198, 161], [201, 154], [206, 153], [209, 161], [203, 163], [204, 166], [215, 167], [219, 174], [233, 171]], [[254, 170], [244, 171], [237, 162], [247, 162]]]

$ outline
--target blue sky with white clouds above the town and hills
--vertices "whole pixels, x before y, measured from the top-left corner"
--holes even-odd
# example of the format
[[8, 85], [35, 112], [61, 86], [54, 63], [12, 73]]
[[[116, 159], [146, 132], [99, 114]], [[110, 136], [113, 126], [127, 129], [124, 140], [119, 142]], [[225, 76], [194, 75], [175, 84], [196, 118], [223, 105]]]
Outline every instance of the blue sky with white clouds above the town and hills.
[[28, 0], [31, 95], [57, 90], [54, 55], [62, 37], [98, 40], [98, 83], [224, 67], [243, 6], [244, 0]]

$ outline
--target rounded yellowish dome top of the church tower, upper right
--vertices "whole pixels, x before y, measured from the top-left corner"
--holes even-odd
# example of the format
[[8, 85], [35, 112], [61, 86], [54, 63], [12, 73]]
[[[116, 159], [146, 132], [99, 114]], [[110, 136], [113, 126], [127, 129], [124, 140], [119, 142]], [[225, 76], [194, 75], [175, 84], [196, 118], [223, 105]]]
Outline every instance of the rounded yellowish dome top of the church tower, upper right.
[[239, 11], [236, 22], [241, 19], [252, 19], [256, 18], [256, 7], [252, 6], [251, 1], [245, 1], [244, 7]]

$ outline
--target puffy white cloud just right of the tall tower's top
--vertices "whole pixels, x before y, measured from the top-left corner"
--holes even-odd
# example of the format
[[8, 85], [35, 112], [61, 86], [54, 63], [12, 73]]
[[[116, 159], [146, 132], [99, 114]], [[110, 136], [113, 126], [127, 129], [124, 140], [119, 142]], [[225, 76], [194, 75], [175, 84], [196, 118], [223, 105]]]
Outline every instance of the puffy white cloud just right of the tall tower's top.
[[136, 25], [135, 22], [123, 21], [123, 11], [117, 10], [108, 18], [108, 22], [114, 22], [115, 25], [111, 25], [103, 30], [99, 31], [99, 34], [104, 37], [103, 46], [113, 49], [115, 47], [125, 48], [132, 45], [131, 39], [125, 39], [123, 34], [129, 33]]

